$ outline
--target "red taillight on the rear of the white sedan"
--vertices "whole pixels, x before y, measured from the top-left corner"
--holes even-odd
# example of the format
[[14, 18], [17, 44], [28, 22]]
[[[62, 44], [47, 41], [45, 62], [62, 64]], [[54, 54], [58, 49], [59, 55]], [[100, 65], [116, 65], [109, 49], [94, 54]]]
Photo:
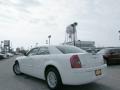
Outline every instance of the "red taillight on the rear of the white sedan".
[[73, 55], [70, 58], [70, 63], [71, 63], [72, 68], [81, 68], [82, 67], [78, 55]]

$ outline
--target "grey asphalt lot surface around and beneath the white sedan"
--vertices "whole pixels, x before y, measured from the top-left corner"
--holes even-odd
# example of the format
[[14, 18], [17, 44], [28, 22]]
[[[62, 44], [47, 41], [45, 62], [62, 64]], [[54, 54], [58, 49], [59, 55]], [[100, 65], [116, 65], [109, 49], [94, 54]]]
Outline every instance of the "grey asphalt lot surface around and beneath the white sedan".
[[[16, 76], [12, 71], [15, 58], [0, 60], [0, 90], [49, 90], [45, 81], [28, 76]], [[120, 65], [109, 66], [106, 76], [93, 83], [64, 86], [62, 90], [120, 90]]]

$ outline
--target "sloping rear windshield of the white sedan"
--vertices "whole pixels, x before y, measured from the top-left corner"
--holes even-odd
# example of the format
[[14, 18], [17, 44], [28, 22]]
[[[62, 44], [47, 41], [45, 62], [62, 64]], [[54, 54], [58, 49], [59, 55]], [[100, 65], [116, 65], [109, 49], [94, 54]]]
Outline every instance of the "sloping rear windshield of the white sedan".
[[68, 53], [87, 53], [86, 51], [74, 47], [74, 46], [56, 46], [57, 49], [59, 49], [59, 51], [61, 51], [64, 54], [68, 54]]

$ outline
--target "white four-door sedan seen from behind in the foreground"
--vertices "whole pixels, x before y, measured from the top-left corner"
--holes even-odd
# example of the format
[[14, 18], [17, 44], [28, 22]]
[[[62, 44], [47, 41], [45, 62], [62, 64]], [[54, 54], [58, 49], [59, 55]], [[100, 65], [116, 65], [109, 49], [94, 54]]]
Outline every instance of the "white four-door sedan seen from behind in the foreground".
[[28, 74], [46, 80], [51, 90], [65, 85], [81, 85], [100, 79], [106, 64], [102, 55], [91, 54], [74, 46], [41, 46], [16, 58], [16, 75]]

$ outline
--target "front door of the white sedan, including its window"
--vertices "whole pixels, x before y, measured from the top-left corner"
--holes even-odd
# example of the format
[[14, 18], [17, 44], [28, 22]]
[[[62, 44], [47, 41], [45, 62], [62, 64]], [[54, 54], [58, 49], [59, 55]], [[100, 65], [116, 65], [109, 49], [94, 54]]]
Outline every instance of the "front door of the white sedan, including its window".
[[30, 50], [24, 60], [22, 61], [23, 72], [29, 75], [34, 74], [34, 63], [36, 56], [38, 55], [39, 48], [33, 48]]

